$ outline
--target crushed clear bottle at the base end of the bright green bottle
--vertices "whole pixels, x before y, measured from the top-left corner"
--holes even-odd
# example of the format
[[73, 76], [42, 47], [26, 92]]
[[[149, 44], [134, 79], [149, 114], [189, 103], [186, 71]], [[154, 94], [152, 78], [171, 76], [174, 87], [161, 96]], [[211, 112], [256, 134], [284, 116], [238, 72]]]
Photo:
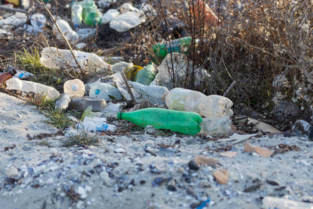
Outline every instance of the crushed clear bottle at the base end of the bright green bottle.
[[232, 121], [230, 117], [223, 118], [202, 118], [200, 123], [201, 133], [210, 135], [223, 135], [232, 132]]

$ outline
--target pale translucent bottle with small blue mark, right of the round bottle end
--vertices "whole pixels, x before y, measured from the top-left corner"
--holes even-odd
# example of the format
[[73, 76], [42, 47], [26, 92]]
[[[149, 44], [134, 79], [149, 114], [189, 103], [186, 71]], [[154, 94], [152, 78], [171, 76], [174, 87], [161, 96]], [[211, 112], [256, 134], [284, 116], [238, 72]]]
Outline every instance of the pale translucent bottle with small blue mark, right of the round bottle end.
[[90, 84], [89, 96], [93, 98], [102, 98], [106, 100], [106, 102], [112, 100], [110, 96], [115, 98], [115, 100], [122, 100], [122, 94], [118, 88], [101, 82]]

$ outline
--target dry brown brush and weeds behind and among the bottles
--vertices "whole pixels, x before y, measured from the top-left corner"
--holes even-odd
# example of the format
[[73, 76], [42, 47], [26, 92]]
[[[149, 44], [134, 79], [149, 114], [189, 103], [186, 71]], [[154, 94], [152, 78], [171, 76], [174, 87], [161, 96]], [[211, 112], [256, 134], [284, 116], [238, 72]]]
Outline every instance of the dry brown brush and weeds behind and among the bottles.
[[[125, 2], [113, 3], [110, 8], [118, 8]], [[70, 20], [70, 8], [65, 7], [67, 3], [69, 1], [58, 1], [56, 8], [56, 2], [51, 1], [51, 13]], [[132, 3], [136, 6], [139, 2]], [[191, 36], [193, 45], [187, 58], [193, 64], [184, 80], [193, 81], [193, 72], [200, 67], [211, 77], [198, 87], [193, 82], [178, 86], [207, 95], [223, 95], [236, 81], [227, 93], [235, 104], [235, 114], [249, 115], [257, 111], [266, 118], [272, 118], [274, 125], [280, 124], [281, 130], [289, 129], [289, 125], [299, 118], [312, 123], [312, 1], [208, 1], [217, 21], [204, 17], [204, 6], [198, 1], [157, 0], [147, 3], [156, 10], [156, 16], [147, 14], [145, 24], [125, 33], [118, 33], [109, 25], [102, 24], [98, 26], [96, 36], [84, 40], [88, 43], [85, 51], [102, 56], [123, 56], [125, 61], [143, 66], [151, 61], [152, 45], [156, 42], [171, 42], [175, 38]], [[36, 12], [49, 17], [38, 6]], [[34, 72], [36, 69], [31, 63], [21, 65], [17, 59], [19, 52], [24, 52], [24, 49], [40, 52], [47, 45], [67, 49], [65, 42], [56, 40], [51, 22], [39, 37], [20, 32], [13, 34], [0, 42], [1, 67], [10, 63]], [[62, 72], [54, 71], [56, 75], [63, 82], [67, 79]], [[85, 82], [88, 79], [83, 75], [77, 77]], [[60, 90], [63, 82], [50, 85]], [[294, 102], [300, 107], [300, 114], [287, 118], [273, 117], [271, 110], [277, 100]]]

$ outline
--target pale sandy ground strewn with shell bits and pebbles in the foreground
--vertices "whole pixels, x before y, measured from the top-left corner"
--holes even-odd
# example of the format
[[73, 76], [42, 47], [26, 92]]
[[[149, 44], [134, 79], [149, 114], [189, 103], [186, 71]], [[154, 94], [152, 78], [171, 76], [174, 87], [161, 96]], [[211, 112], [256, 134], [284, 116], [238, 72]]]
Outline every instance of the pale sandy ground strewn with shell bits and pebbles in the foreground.
[[[313, 142], [305, 135], [246, 140], [263, 148], [300, 148], [273, 157], [243, 152], [246, 141], [147, 133], [97, 135], [101, 144], [88, 148], [65, 148], [66, 137], [47, 137], [50, 146], [43, 146], [26, 135], [58, 130], [35, 107], [4, 93], [0, 98], [0, 208], [197, 208], [208, 199], [206, 208], [268, 208], [266, 196], [313, 208]], [[230, 145], [235, 157], [212, 150]], [[188, 162], [197, 155], [219, 161], [191, 170]], [[226, 185], [214, 178], [218, 169], [230, 172]]]

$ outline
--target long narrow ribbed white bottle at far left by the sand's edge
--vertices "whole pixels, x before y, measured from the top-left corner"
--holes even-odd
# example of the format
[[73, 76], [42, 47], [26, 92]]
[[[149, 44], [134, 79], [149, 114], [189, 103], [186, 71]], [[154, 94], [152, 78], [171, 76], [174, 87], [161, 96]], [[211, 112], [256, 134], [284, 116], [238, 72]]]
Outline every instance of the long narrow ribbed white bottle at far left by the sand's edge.
[[15, 89], [19, 91], [25, 91], [27, 93], [33, 92], [43, 97], [47, 97], [47, 99], [51, 100], [57, 98], [60, 93], [56, 91], [56, 88], [51, 86], [45, 86], [43, 84], [38, 84], [35, 82], [22, 81], [18, 78], [11, 78], [6, 81], [6, 85], [8, 89]]

